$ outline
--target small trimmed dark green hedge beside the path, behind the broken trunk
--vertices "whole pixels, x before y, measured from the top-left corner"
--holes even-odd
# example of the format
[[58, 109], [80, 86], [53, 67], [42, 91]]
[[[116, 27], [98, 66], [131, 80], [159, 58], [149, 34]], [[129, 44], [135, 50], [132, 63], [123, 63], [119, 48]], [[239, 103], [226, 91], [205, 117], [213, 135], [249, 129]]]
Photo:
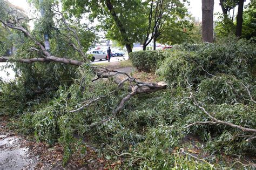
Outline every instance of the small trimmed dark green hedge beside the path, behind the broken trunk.
[[132, 65], [139, 71], [154, 72], [158, 63], [164, 59], [163, 51], [138, 51], [131, 52]]

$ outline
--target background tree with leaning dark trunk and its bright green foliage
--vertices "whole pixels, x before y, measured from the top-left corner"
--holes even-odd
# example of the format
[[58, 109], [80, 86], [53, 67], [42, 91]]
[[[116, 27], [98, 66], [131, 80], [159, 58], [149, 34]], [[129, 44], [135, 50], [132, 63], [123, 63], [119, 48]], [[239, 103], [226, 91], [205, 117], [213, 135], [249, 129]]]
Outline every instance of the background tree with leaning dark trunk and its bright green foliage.
[[90, 21], [97, 18], [100, 27], [105, 30], [106, 38], [117, 40], [125, 45], [128, 53], [132, 52], [132, 45], [139, 42], [143, 36], [143, 12], [145, 3], [140, 0], [112, 1], [71, 1], [63, 0], [64, 11], [73, 16], [82, 17], [89, 14]]

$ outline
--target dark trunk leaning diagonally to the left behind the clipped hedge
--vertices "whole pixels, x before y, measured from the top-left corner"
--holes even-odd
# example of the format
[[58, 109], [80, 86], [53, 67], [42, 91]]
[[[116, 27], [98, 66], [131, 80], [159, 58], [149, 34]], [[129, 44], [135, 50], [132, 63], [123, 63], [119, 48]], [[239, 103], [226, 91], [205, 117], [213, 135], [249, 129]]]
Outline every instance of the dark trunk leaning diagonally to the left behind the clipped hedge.
[[114, 11], [114, 7], [113, 7], [112, 3], [110, 2], [110, 0], [105, 0], [105, 4], [107, 6], [107, 9], [109, 9], [109, 12], [110, 12], [112, 18], [114, 19], [114, 22], [117, 24], [119, 31], [122, 35], [122, 38], [126, 42], [125, 46], [126, 46], [127, 52], [128, 53], [132, 52], [132, 46], [131, 46], [131, 43], [128, 38], [129, 36], [126, 33], [123, 23], [118, 18], [116, 11]]

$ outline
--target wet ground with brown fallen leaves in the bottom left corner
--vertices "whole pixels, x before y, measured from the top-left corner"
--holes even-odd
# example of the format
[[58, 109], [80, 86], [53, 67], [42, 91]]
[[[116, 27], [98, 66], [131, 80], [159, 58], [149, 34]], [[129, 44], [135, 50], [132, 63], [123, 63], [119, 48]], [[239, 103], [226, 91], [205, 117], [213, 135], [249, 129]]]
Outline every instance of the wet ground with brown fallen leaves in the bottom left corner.
[[105, 161], [98, 159], [90, 148], [85, 157], [75, 153], [63, 166], [63, 148], [8, 130], [6, 118], [0, 117], [0, 169], [103, 169]]

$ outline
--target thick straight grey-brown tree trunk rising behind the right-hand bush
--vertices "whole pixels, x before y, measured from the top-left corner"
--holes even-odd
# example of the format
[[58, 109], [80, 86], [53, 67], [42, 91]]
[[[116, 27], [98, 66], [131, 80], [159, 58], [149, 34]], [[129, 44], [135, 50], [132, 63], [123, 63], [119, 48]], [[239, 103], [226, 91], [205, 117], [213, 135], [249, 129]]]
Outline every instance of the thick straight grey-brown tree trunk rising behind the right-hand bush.
[[202, 37], [204, 42], [213, 42], [214, 0], [202, 0]]

